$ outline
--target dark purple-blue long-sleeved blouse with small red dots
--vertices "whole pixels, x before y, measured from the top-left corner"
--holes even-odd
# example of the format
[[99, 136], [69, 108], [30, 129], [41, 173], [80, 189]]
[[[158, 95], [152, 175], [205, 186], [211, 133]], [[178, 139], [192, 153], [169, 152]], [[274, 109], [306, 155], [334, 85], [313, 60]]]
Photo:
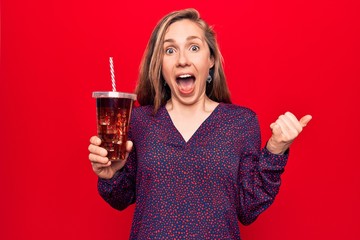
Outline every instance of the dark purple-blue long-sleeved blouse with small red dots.
[[130, 239], [240, 239], [274, 201], [288, 154], [261, 149], [256, 114], [220, 103], [186, 142], [165, 107], [133, 109], [134, 149], [100, 195], [135, 205]]

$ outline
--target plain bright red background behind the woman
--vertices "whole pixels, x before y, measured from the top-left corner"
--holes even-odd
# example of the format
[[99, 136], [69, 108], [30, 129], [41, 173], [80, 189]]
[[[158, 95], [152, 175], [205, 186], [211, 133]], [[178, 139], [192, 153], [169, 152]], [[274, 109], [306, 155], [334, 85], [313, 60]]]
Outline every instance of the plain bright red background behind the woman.
[[147, 40], [172, 10], [214, 26], [233, 102], [263, 142], [287, 110], [313, 120], [293, 144], [275, 203], [251, 239], [360, 239], [359, 1], [1, 1], [0, 238], [127, 239], [88, 161], [92, 91], [132, 92]]

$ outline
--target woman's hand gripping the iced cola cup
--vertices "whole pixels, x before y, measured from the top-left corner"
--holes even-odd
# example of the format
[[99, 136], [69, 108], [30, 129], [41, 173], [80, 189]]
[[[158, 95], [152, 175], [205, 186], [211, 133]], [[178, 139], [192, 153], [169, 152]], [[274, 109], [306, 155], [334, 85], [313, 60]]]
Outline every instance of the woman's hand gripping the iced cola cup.
[[107, 151], [105, 148], [100, 147], [101, 139], [97, 136], [92, 136], [90, 138], [89, 145], [89, 160], [92, 165], [93, 171], [100, 178], [110, 179], [114, 176], [114, 174], [124, 167], [126, 163], [126, 159], [129, 156], [129, 152], [132, 149], [133, 143], [131, 141], [126, 142], [126, 157], [125, 160], [119, 161], [110, 161], [106, 155]]

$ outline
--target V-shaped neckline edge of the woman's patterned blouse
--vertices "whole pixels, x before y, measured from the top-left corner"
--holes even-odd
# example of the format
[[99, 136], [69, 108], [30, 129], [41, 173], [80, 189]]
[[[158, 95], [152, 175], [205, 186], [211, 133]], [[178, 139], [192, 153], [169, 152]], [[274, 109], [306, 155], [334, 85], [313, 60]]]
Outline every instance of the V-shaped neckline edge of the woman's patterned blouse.
[[206, 126], [209, 124], [209, 122], [212, 122], [216, 119], [217, 113], [220, 111], [222, 103], [219, 103], [214, 110], [210, 113], [210, 115], [205, 118], [205, 120], [200, 124], [200, 126], [196, 129], [196, 131], [191, 135], [188, 141], [185, 141], [184, 137], [181, 135], [180, 131], [176, 128], [174, 122], [172, 121], [169, 112], [167, 111], [166, 107], [161, 107], [162, 114], [164, 116], [164, 120], [167, 121], [169, 124], [166, 124], [166, 126], [170, 126], [169, 131], [172, 131], [174, 134], [174, 138], [177, 138], [180, 143], [184, 145], [190, 144], [194, 139], [200, 137], [198, 136], [201, 134], [203, 129], [207, 129]]

